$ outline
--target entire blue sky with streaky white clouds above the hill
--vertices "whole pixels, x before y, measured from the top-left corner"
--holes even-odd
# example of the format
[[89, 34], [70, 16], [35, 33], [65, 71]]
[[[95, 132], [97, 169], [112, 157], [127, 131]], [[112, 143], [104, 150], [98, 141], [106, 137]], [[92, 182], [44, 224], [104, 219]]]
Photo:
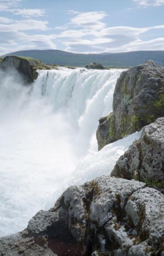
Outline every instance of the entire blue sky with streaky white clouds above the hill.
[[0, 55], [164, 50], [164, 0], [0, 0]]

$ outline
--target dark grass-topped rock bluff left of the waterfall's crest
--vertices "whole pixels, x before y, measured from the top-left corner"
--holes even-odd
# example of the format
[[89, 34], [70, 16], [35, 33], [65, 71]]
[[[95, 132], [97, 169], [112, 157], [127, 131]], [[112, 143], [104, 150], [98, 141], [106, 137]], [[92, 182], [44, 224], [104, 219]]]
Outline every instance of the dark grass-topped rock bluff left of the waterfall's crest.
[[51, 69], [56, 67], [46, 65], [30, 57], [6, 56], [0, 62], [0, 69], [10, 72], [11, 68], [16, 69], [23, 76], [25, 83], [28, 84], [38, 77], [37, 69]]

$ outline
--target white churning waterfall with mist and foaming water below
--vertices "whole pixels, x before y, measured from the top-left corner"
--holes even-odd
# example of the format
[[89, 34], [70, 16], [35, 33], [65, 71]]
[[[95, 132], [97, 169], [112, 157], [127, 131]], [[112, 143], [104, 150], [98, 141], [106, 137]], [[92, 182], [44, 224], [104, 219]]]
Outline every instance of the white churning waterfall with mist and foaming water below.
[[[122, 70], [40, 71], [33, 86], [0, 73], [0, 236], [24, 229], [71, 184], [109, 174], [139, 133], [97, 152]], [[16, 77], [16, 78], [15, 78]]]

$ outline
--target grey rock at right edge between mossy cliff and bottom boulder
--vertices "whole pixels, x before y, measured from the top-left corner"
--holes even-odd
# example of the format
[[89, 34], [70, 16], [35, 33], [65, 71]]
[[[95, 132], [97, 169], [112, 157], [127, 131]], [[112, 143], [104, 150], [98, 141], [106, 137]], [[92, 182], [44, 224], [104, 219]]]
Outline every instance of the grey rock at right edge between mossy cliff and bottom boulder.
[[143, 128], [111, 172], [112, 176], [138, 179], [164, 191], [164, 117]]

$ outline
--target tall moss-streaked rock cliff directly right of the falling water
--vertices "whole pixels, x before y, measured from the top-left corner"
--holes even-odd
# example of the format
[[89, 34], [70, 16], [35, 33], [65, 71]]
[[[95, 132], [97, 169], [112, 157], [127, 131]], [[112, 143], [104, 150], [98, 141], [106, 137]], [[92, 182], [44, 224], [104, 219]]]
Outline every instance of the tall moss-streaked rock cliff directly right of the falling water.
[[113, 95], [113, 113], [99, 120], [98, 150], [164, 116], [164, 68], [153, 61], [121, 73]]

